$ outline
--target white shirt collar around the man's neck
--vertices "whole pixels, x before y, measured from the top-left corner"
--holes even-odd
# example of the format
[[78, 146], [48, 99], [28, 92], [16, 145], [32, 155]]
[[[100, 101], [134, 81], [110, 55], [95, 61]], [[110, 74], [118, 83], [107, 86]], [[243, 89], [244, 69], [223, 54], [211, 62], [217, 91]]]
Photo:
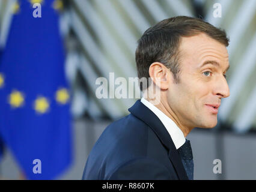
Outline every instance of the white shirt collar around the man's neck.
[[141, 103], [143, 103], [148, 109], [150, 109], [162, 122], [165, 126], [166, 130], [171, 136], [171, 139], [176, 147], [176, 149], [180, 148], [185, 142], [186, 139], [184, 137], [183, 132], [178, 128], [174, 121], [169, 118], [165, 113], [159, 110], [156, 106], [154, 106], [149, 101], [145, 100], [145, 98], [141, 98]]

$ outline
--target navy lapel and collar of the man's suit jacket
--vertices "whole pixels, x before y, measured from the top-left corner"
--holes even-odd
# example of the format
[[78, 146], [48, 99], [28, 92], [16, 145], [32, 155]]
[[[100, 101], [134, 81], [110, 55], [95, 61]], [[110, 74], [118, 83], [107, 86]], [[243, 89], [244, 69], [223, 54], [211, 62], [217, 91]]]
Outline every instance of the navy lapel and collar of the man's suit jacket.
[[172, 142], [171, 136], [160, 119], [150, 109], [148, 109], [148, 107], [141, 103], [141, 100], [136, 101], [136, 103], [130, 107], [129, 112], [141, 119], [141, 121], [144, 121], [145, 124], [149, 125], [154, 133], [159, 137], [162, 144], [168, 149], [168, 157], [174, 166], [178, 178], [183, 180], [188, 179], [180, 155]]

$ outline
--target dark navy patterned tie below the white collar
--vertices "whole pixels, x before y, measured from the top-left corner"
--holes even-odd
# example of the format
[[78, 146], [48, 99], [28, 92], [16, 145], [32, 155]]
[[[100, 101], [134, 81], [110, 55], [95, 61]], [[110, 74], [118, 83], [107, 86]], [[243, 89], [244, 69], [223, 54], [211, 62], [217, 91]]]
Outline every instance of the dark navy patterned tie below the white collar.
[[193, 161], [193, 154], [190, 145], [190, 140], [186, 139], [186, 142], [177, 149], [178, 153], [180, 154], [181, 161], [183, 166], [186, 170], [187, 177], [189, 180], [194, 179], [194, 161]]

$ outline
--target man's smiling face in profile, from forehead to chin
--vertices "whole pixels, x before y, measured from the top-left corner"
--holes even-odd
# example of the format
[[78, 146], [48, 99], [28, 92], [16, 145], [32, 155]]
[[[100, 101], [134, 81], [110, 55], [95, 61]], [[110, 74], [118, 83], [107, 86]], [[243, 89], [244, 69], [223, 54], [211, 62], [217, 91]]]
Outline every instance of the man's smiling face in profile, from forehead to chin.
[[212, 128], [217, 124], [221, 98], [230, 91], [225, 73], [229, 67], [224, 44], [198, 34], [181, 38], [180, 82], [169, 83], [168, 103], [178, 121], [187, 127]]

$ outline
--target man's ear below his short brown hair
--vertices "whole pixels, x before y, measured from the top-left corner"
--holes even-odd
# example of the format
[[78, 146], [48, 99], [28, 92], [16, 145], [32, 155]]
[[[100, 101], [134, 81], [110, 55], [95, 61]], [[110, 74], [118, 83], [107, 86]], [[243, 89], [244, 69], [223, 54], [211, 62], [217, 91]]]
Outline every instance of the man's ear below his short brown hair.
[[169, 81], [171, 80], [171, 71], [160, 62], [153, 62], [150, 65], [148, 73], [154, 84], [160, 89], [166, 90], [169, 88]]

